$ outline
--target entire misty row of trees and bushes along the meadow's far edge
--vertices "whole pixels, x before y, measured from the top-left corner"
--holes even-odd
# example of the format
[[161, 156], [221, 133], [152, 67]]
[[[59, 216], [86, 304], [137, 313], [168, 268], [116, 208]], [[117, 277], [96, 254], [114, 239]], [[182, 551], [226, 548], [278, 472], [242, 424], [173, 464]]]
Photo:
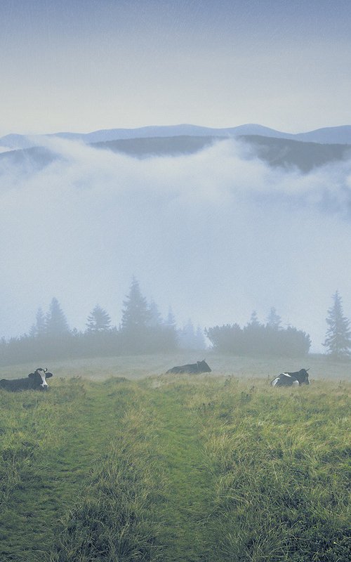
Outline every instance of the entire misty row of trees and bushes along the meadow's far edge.
[[[343, 315], [340, 294], [333, 295], [333, 306], [326, 318], [324, 346], [333, 358], [347, 358], [351, 350], [350, 321]], [[60, 303], [53, 298], [46, 314], [41, 308], [28, 334], [0, 340], [2, 365], [53, 358], [79, 358], [141, 353], [167, 353], [178, 349], [203, 350], [204, 334], [214, 350], [233, 355], [303, 356], [310, 351], [310, 335], [296, 327], [282, 327], [274, 307], [266, 322], [259, 322], [255, 311], [244, 327], [227, 324], [202, 329], [189, 320], [183, 328], [176, 326], [171, 311], [164, 320], [157, 303], [148, 303], [135, 277], [123, 301], [121, 324], [112, 326], [110, 315], [100, 305], [88, 315], [86, 329], [69, 329]]]

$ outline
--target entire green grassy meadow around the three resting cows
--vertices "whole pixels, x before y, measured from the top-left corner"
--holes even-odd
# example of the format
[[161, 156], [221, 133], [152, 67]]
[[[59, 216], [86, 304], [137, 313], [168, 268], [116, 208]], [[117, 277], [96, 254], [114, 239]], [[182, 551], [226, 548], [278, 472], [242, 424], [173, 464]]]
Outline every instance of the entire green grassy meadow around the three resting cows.
[[0, 561], [349, 561], [350, 362], [206, 360], [53, 361], [47, 393], [0, 391]]

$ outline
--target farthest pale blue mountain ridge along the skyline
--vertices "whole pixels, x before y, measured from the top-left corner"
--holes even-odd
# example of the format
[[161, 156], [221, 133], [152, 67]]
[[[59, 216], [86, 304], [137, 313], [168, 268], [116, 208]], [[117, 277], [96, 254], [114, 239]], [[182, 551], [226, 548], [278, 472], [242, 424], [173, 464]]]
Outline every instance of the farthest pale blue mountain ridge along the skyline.
[[284, 133], [259, 124], [246, 124], [235, 127], [213, 129], [211, 127], [190, 124], [145, 126], [138, 129], [102, 129], [91, 133], [51, 133], [47, 135], [20, 135], [9, 134], [0, 138], [0, 146], [10, 149], [22, 149], [40, 146], [43, 138], [67, 138], [72, 141], [81, 141], [86, 144], [105, 143], [132, 138], [162, 138], [174, 136], [196, 137], [237, 137], [237, 136], [264, 136], [269, 138], [284, 138], [291, 141], [303, 141], [320, 144], [348, 144], [351, 145], [351, 125], [324, 127], [307, 133]]

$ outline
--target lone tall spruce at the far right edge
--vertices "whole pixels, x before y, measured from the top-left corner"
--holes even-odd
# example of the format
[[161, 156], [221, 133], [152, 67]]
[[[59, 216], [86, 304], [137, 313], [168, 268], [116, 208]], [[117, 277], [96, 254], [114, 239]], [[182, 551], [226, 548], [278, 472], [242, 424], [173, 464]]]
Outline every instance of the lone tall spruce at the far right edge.
[[328, 318], [326, 318], [328, 329], [323, 345], [328, 349], [328, 355], [342, 359], [350, 355], [350, 320], [343, 315], [342, 299], [338, 291], [333, 295], [333, 301], [333, 306], [329, 308]]

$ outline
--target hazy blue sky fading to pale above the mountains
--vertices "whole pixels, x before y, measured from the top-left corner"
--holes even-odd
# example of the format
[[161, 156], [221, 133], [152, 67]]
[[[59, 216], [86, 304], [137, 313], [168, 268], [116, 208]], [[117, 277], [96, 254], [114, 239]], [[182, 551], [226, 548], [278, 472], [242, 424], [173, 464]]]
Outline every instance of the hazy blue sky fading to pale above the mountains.
[[0, 136], [351, 124], [349, 0], [2, 0]]

